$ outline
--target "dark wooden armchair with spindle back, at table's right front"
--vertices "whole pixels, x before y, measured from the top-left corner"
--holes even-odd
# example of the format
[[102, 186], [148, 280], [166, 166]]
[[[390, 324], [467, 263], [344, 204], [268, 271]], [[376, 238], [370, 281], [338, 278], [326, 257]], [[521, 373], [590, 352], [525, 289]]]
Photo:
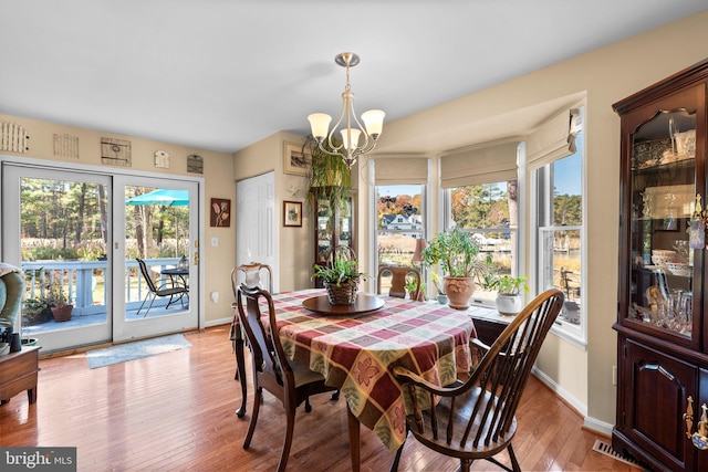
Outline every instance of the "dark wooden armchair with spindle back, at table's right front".
[[[466, 380], [438, 387], [406, 368], [394, 367], [396, 379], [407, 385], [410, 394], [414, 411], [406, 417], [406, 427], [416, 440], [440, 454], [459, 459], [464, 472], [478, 459], [520, 472], [511, 447], [517, 432], [516, 411], [563, 298], [558, 289], [545, 291], [513, 318], [491, 346], [473, 339], [472, 345], [485, 354]], [[418, 403], [416, 388], [418, 395], [427, 396], [427, 406]], [[436, 396], [440, 398], [437, 405]], [[494, 459], [504, 449], [511, 468]], [[392, 471], [398, 470], [402, 451], [403, 445], [396, 452]]]

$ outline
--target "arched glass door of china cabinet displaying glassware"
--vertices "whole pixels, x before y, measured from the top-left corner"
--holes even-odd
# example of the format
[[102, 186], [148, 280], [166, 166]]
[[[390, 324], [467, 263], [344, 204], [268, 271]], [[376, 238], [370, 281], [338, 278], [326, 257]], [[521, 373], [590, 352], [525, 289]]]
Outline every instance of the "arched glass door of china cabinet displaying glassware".
[[[696, 207], [696, 114], [659, 111], [631, 149], [631, 270], [626, 317], [679, 338], [694, 329], [691, 234]], [[693, 228], [693, 230], [691, 230]], [[697, 289], [699, 290], [699, 289]], [[699, 310], [699, 308], [698, 308]]]

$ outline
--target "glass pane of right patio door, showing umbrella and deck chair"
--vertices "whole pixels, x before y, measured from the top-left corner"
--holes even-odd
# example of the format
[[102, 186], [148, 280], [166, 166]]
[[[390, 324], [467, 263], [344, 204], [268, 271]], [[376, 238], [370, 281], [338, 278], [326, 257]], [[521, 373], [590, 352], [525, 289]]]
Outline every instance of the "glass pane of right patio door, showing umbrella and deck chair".
[[188, 294], [164, 291], [189, 287], [188, 190], [126, 186], [125, 204], [125, 318], [184, 313]]

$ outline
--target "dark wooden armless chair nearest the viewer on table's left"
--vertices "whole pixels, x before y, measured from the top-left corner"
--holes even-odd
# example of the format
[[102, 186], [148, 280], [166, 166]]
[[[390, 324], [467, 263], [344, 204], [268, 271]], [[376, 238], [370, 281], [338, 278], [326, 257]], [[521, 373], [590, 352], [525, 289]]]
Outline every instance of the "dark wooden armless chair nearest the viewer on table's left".
[[[266, 314], [261, 313], [261, 298], [268, 303], [268, 313]], [[324, 384], [324, 377], [321, 374], [288, 359], [280, 344], [275, 308], [269, 292], [242, 284], [238, 289], [236, 300], [241, 325], [251, 347], [253, 387], [256, 389], [251, 421], [243, 440], [243, 449], [248, 449], [253, 439], [262, 394], [266, 389], [275, 396], [285, 409], [285, 438], [278, 463], [278, 471], [284, 471], [292, 444], [295, 409], [304, 401], [305, 411], [309, 412], [312, 410], [309, 400], [311, 395], [335, 389]], [[243, 305], [243, 300], [246, 300], [246, 305]], [[268, 326], [264, 326], [262, 316], [267, 316]]]

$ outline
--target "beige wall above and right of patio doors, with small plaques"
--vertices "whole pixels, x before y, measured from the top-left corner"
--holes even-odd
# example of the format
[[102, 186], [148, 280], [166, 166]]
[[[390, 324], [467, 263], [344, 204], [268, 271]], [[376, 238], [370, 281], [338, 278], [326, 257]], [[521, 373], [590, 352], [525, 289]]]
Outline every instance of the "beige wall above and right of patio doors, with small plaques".
[[[228, 198], [232, 201], [236, 197], [233, 186], [233, 158], [230, 154], [217, 153], [205, 149], [196, 149], [175, 144], [159, 143], [150, 139], [122, 136], [113, 133], [103, 133], [91, 129], [76, 128], [33, 119], [25, 119], [15, 116], [0, 115], [0, 122], [11, 122], [23, 126], [30, 136], [30, 151], [25, 154], [2, 153], [7, 156], [22, 156], [48, 161], [64, 162], [67, 166], [91, 166], [101, 172], [111, 174], [116, 167], [105, 166], [101, 162], [101, 138], [125, 139], [131, 141], [132, 166], [131, 171], [135, 175], [169, 175], [199, 177], [204, 179], [205, 202], [201, 211], [205, 214], [206, 227], [204, 230], [205, 240], [201, 242], [202, 260], [201, 268], [209, 271], [204, 277], [204, 306], [205, 321], [208, 324], [223, 319], [230, 319], [233, 312], [231, 302], [231, 283], [229, 274], [236, 260], [236, 221], [231, 220], [230, 228], [209, 227], [209, 201], [211, 198]], [[70, 135], [79, 138], [79, 159], [54, 157], [53, 139], [54, 134]], [[170, 168], [158, 169], [154, 166], [154, 153], [158, 149], [166, 150], [170, 155]], [[204, 158], [204, 174], [187, 172], [187, 156], [196, 154]], [[126, 168], [121, 167], [125, 170]], [[3, 228], [3, 231], [8, 229]], [[211, 238], [219, 239], [218, 248], [210, 244]], [[209, 294], [219, 292], [218, 303], [211, 302]]]

